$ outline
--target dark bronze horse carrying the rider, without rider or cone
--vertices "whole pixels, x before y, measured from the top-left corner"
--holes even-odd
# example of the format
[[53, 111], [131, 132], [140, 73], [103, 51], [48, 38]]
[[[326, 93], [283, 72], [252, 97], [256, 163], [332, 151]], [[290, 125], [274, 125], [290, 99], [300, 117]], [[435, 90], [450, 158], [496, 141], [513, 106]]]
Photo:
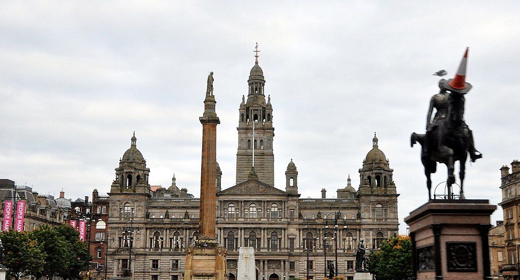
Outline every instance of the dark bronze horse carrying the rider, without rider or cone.
[[460, 198], [464, 198], [464, 174], [467, 154], [470, 150], [471, 131], [463, 121], [464, 94], [450, 92], [448, 113], [438, 125], [426, 134], [412, 133], [410, 144], [419, 142], [422, 146], [421, 161], [426, 175], [428, 198], [432, 199], [432, 173], [437, 171], [437, 162], [444, 163], [448, 168], [448, 199], [453, 199], [452, 185], [455, 183], [454, 164], [460, 164]]

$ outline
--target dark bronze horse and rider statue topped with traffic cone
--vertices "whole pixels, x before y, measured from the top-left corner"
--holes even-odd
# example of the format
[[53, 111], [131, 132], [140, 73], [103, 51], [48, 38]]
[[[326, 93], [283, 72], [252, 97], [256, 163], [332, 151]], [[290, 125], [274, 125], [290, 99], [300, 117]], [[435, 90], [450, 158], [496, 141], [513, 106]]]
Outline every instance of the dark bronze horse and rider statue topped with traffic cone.
[[[434, 95], [430, 102], [426, 120], [426, 134], [412, 133], [410, 145], [419, 142], [422, 146], [421, 161], [426, 175], [428, 199], [432, 199], [431, 174], [437, 170], [437, 163], [444, 163], [448, 169], [448, 199], [453, 199], [452, 184], [455, 183], [454, 162], [460, 164], [460, 198], [464, 198], [464, 175], [467, 154], [472, 162], [482, 158], [482, 154], [475, 149], [473, 133], [464, 122], [464, 95], [472, 88], [465, 82], [467, 51], [453, 79], [439, 81], [440, 92]], [[448, 93], [449, 92], [449, 93]], [[431, 121], [433, 109], [437, 112]]]

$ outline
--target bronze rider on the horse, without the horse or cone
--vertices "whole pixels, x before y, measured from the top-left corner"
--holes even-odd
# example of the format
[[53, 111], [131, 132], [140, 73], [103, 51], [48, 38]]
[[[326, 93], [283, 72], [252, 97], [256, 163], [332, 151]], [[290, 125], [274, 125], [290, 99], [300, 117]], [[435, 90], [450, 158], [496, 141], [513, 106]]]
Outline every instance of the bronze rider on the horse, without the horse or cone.
[[[432, 96], [432, 99], [430, 100], [430, 108], [428, 109], [428, 115], [426, 117], [426, 142], [430, 138], [430, 135], [433, 133], [432, 131], [435, 131], [437, 129], [440, 121], [443, 120], [448, 114], [450, 92], [447, 91], [446, 85], [446, 79], [440, 79], [440, 91], [438, 94]], [[464, 97], [462, 97], [462, 102], [464, 102]], [[462, 108], [464, 108], [463, 104]], [[435, 116], [432, 119], [433, 109], [435, 109], [436, 112]], [[464, 112], [461, 113], [461, 115], [463, 115]], [[463, 136], [467, 139], [468, 142], [468, 152], [470, 154], [471, 161], [475, 162], [478, 158], [482, 158], [482, 154], [475, 149], [475, 143], [473, 141], [473, 131], [467, 126], [464, 120], [462, 120], [462, 130]]]

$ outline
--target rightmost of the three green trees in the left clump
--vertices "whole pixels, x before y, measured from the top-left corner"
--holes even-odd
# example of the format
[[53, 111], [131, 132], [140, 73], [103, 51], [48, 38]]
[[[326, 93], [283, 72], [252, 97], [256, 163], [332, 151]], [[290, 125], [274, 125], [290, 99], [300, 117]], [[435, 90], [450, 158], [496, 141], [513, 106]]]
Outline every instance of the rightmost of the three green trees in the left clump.
[[58, 275], [63, 279], [77, 279], [80, 277], [80, 272], [89, 269], [92, 260], [88, 244], [80, 240], [79, 233], [70, 225], [58, 225], [54, 230], [65, 239], [70, 248], [70, 258], [67, 260], [69, 269]]

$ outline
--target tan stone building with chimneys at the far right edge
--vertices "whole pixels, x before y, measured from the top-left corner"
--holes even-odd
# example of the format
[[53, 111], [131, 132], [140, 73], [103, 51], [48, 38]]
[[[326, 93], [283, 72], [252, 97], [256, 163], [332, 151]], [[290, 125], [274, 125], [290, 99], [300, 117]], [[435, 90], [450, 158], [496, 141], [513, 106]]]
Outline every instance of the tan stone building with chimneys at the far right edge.
[[506, 280], [519, 279], [518, 251], [520, 248], [520, 162], [515, 160], [509, 166], [500, 168], [502, 190], [502, 206], [504, 215], [504, 244], [506, 263], [502, 266], [503, 277]]

